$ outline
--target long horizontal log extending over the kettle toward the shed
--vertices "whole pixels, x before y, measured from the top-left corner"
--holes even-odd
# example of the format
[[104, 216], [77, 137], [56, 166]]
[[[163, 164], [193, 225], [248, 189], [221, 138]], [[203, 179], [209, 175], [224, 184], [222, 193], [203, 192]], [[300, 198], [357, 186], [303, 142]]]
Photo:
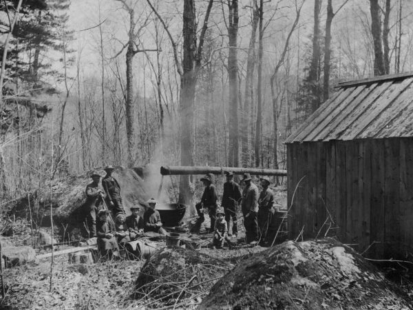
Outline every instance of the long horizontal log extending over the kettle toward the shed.
[[160, 174], [187, 175], [187, 174], [224, 174], [232, 171], [234, 174], [253, 174], [255, 176], [287, 176], [287, 170], [281, 169], [260, 169], [260, 168], [240, 168], [240, 167], [202, 167], [202, 166], [162, 166]]

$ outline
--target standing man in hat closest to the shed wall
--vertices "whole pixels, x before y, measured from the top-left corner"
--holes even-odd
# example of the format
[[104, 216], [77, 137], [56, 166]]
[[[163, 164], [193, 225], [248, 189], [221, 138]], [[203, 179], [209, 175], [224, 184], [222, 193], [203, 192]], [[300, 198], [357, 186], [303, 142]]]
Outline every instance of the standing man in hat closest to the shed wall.
[[262, 191], [258, 198], [257, 215], [260, 243], [262, 245], [271, 245], [272, 239], [275, 236], [274, 233], [277, 230], [273, 225], [273, 215], [275, 213], [273, 208], [274, 193], [269, 189], [271, 181], [268, 176], [263, 176], [260, 180]]

